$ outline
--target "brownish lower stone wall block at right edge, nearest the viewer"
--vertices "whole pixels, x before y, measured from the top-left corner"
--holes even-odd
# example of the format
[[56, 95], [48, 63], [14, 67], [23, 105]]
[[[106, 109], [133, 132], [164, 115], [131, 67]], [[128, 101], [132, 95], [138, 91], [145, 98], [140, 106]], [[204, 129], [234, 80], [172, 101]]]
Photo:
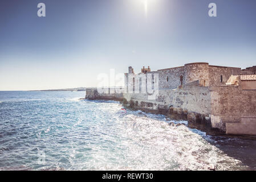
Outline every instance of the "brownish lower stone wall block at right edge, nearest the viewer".
[[[256, 127], [256, 90], [242, 90], [241, 86], [214, 86], [210, 90], [212, 126], [227, 134], [252, 134], [243, 127], [242, 118], [250, 118], [250, 125]], [[239, 127], [234, 129], [234, 126]], [[240, 131], [236, 133], [238, 128]]]

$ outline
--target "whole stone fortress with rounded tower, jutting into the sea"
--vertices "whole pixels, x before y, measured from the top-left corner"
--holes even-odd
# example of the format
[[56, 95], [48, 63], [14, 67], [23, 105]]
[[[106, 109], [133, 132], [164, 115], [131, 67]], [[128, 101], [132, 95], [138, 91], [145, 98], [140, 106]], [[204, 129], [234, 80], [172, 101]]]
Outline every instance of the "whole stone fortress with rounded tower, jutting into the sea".
[[[148, 82], [149, 73], [158, 77], [159, 89], [153, 100], [148, 92], [141, 92], [141, 77]], [[151, 81], [154, 85], [154, 76]], [[241, 69], [189, 63], [157, 71], [143, 67], [138, 74], [129, 67], [125, 88], [120, 90], [108, 88], [108, 92], [99, 93], [87, 89], [86, 99], [120, 100], [133, 109], [186, 119], [189, 126], [206, 131], [256, 135], [256, 66]]]

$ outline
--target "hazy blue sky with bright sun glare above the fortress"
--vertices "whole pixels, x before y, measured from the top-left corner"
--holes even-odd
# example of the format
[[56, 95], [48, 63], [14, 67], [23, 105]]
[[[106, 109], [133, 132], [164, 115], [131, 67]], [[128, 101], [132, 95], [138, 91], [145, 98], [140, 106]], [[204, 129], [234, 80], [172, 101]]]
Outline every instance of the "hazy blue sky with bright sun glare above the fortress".
[[[38, 17], [38, 3], [46, 16]], [[208, 15], [216, 3], [217, 17]], [[1, 0], [0, 90], [97, 86], [101, 73], [256, 65], [255, 0]]]

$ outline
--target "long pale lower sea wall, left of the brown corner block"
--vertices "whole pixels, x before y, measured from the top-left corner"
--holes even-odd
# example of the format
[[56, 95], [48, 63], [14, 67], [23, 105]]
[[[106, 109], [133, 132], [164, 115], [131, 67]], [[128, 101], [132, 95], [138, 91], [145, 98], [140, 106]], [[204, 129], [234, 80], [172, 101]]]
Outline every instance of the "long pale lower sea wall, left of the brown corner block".
[[210, 114], [210, 93], [208, 87], [194, 84], [184, 85], [183, 89], [160, 89], [156, 100], [148, 100], [147, 94], [124, 94], [127, 101], [137, 102], [137, 107], [151, 110], [168, 110], [170, 106], [182, 108], [188, 112]]

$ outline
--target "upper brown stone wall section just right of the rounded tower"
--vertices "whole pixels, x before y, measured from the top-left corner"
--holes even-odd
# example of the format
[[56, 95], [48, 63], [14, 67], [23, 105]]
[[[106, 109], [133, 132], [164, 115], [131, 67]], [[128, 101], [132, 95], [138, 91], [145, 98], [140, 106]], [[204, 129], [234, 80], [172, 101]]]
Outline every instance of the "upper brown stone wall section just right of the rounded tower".
[[240, 75], [240, 72], [241, 68], [218, 67], [209, 65], [209, 86], [225, 85], [231, 75]]

